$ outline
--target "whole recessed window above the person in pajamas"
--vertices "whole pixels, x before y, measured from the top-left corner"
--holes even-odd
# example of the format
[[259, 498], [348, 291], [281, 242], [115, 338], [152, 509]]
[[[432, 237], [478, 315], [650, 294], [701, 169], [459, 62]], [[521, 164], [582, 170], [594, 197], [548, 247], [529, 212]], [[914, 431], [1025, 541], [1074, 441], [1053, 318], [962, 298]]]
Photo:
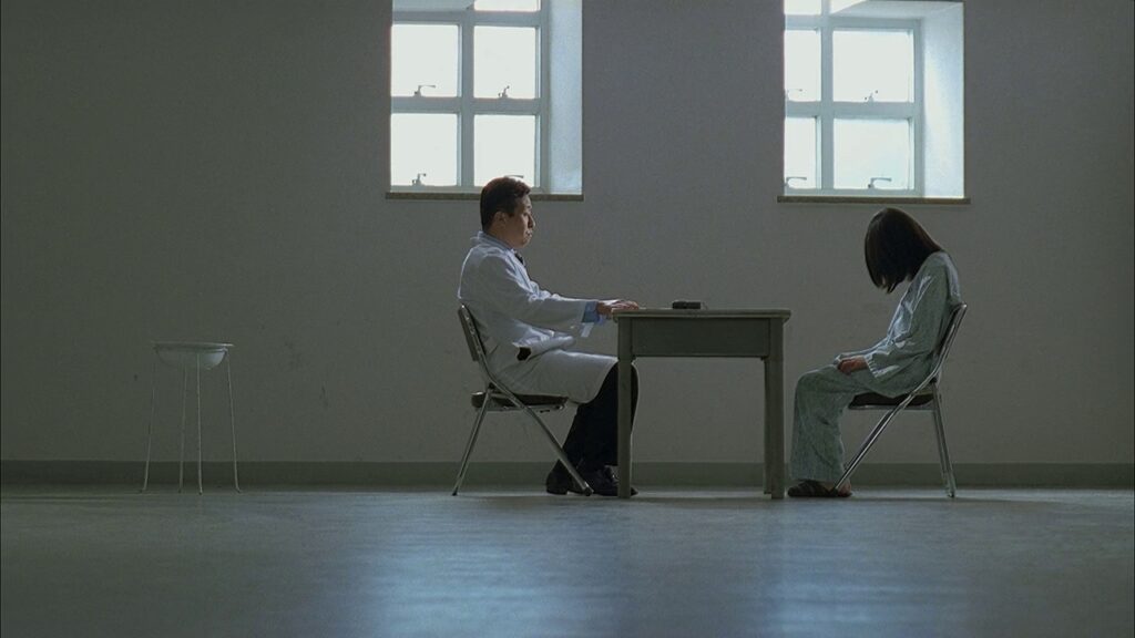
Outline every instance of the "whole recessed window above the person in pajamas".
[[785, 195], [964, 196], [961, 11], [785, 0]]

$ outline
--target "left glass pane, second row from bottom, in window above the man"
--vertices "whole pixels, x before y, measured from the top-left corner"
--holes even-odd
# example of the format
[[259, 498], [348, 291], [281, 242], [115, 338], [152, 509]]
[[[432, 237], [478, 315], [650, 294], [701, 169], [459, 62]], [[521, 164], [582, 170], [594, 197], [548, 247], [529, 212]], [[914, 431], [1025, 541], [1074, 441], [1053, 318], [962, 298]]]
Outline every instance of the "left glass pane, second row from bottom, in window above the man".
[[457, 94], [457, 26], [396, 24], [390, 30], [390, 94]]

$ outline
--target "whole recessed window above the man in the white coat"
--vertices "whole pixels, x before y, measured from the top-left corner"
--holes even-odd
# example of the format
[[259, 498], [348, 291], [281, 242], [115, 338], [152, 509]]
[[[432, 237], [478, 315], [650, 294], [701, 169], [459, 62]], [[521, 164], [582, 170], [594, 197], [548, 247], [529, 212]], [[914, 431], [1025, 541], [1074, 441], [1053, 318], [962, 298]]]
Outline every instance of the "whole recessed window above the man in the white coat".
[[582, 192], [580, 0], [395, 0], [393, 17], [392, 191]]

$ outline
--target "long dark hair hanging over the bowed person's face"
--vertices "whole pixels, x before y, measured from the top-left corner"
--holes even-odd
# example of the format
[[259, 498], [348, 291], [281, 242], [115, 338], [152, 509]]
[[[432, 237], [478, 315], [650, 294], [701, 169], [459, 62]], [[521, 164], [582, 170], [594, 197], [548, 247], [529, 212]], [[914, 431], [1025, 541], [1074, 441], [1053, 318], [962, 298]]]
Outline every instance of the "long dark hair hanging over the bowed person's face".
[[914, 278], [926, 258], [940, 250], [925, 228], [897, 208], [876, 212], [863, 241], [871, 280], [886, 292]]

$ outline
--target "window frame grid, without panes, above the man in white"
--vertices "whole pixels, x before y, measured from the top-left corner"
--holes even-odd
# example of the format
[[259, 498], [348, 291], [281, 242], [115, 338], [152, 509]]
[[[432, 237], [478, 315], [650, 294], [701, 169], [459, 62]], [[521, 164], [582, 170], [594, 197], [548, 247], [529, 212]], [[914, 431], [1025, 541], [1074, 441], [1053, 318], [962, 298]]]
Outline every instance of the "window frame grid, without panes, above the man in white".
[[[536, 149], [533, 165], [536, 175], [524, 176], [533, 193], [545, 193], [549, 183], [549, 112], [550, 112], [550, 37], [548, 0], [540, 2], [536, 11], [478, 11], [472, 7], [460, 10], [394, 10], [392, 33], [395, 25], [451, 25], [457, 27], [457, 74], [456, 96], [394, 95], [390, 87], [389, 123], [396, 115], [447, 114], [457, 117], [457, 184], [452, 186], [396, 184], [393, 174], [393, 153], [388, 175], [389, 192], [461, 194], [479, 192], [474, 182], [474, 118], [479, 115], [524, 115], [535, 117]], [[473, 47], [474, 30], [479, 26], [505, 26], [536, 28], [536, 96], [535, 98], [477, 98], [473, 94]], [[393, 50], [392, 50], [392, 65]]]

